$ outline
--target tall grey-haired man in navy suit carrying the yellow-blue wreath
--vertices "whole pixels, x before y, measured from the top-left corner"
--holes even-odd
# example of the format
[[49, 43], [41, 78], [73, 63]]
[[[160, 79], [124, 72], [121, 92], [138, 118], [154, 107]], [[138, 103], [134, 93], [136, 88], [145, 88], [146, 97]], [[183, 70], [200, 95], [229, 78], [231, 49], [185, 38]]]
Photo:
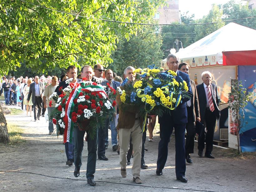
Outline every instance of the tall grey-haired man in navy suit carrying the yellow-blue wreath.
[[[181, 71], [178, 71], [179, 58], [174, 54], [169, 54], [167, 57], [167, 66], [169, 70], [176, 72], [176, 81], [186, 81], [191, 93], [191, 86], [189, 76]], [[159, 117], [160, 123], [160, 141], [158, 145], [158, 158], [157, 158], [157, 175], [162, 175], [162, 170], [167, 160], [168, 143], [170, 142], [171, 133], [175, 129], [175, 170], [176, 178], [181, 182], [187, 182], [185, 177], [186, 160], [185, 160], [185, 128], [187, 123], [186, 101], [190, 98], [182, 98], [181, 103], [176, 110], [171, 110], [169, 113], [164, 113]]]

